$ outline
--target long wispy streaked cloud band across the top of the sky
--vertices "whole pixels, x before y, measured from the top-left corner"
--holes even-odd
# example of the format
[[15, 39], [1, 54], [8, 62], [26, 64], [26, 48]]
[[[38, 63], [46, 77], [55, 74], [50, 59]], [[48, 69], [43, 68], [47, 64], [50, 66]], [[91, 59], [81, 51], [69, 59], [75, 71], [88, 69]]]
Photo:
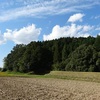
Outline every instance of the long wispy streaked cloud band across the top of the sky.
[[[44, 17], [70, 12], [81, 12], [94, 5], [99, 0], [12, 0], [0, 2], [0, 22], [20, 17]], [[10, 8], [10, 9], [9, 9]]]

